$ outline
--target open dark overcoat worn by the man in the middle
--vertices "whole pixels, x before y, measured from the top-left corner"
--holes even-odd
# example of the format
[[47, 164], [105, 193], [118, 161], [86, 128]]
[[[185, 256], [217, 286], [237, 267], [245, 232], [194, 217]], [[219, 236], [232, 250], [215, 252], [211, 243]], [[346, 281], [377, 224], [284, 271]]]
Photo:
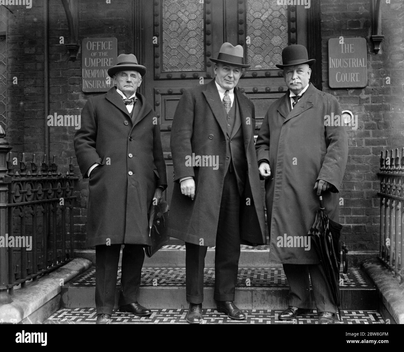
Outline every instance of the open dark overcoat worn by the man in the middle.
[[[264, 200], [254, 148], [254, 105], [234, 90], [240, 108], [241, 125], [248, 175], [240, 207], [242, 243], [265, 244]], [[185, 242], [205, 246], [216, 245], [220, 202], [225, 178], [227, 128], [223, 103], [215, 81], [184, 92], [174, 115], [171, 131], [171, 153], [174, 165], [174, 189], [170, 204], [168, 231]], [[217, 155], [219, 168], [186, 166], [185, 160], [195, 155]], [[195, 199], [181, 194], [179, 179], [193, 176]], [[238, 192], [237, 189], [234, 192]], [[201, 242], [203, 239], [203, 243]]]

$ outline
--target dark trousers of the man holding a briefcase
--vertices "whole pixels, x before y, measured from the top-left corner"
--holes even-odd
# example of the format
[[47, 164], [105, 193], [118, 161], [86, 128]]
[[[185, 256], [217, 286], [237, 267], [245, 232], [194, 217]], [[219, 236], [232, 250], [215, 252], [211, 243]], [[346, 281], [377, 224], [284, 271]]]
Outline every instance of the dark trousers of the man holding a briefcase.
[[[121, 245], [95, 246], [95, 306], [97, 314], [112, 314]], [[142, 245], [125, 245], [119, 306], [137, 302], [137, 290], [145, 259]]]

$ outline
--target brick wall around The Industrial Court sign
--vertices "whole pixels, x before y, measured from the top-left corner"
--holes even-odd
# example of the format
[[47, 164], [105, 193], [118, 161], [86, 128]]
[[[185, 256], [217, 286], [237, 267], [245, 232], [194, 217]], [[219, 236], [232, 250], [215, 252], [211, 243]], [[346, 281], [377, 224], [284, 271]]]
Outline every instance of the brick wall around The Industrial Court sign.
[[[402, 1], [382, 1], [379, 54], [373, 51], [371, 1], [321, 1], [323, 90], [335, 95], [342, 109], [358, 115], [358, 129], [348, 129], [349, 156], [340, 197], [343, 240], [351, 250], [379, 249], [379, 157], [382, 149], [404, 146], [403, 14]], [[328, 87], [328, 39], [364, 37], [368, 47], [368, 86], [364, 89]], [[386, 77], [391, 84], [386, 84]]]

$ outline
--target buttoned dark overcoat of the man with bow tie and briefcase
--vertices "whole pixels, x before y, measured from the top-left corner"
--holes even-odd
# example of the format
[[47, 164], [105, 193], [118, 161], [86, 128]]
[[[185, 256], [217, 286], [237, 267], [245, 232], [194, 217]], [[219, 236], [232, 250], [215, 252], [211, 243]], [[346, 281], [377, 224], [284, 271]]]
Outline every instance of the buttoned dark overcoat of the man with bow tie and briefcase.
[[[88, 98], [74, 149], [88, 182], [87, 246], [150, 245], [147, 213], [156, 187], [166, 188], [166, 165], [156, 113], [137, 93], [141, 110], [132, 121], [122, 97], [111, 88]], [[139, 104], [136, 102], [135, 104]]]

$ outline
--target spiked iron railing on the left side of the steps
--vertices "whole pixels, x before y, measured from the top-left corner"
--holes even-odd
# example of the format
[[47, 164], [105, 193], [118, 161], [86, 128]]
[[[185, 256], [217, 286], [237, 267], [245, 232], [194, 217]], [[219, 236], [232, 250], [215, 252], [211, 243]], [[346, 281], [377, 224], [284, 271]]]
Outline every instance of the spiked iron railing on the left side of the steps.
[[[1, 131], [0, 131], [1, 132]], [[2, 131], [4, 133], [4, 130]], [[4, 142], [5, 141], [5, 142]], [[11, 301], [17, 285], [25, 286], [73, 258], [74, 166], [58, 171], [44, 155], [20, 160], [0, 133], [0, 304]], [[27, 168], [29, 164], [29, 168]]]

